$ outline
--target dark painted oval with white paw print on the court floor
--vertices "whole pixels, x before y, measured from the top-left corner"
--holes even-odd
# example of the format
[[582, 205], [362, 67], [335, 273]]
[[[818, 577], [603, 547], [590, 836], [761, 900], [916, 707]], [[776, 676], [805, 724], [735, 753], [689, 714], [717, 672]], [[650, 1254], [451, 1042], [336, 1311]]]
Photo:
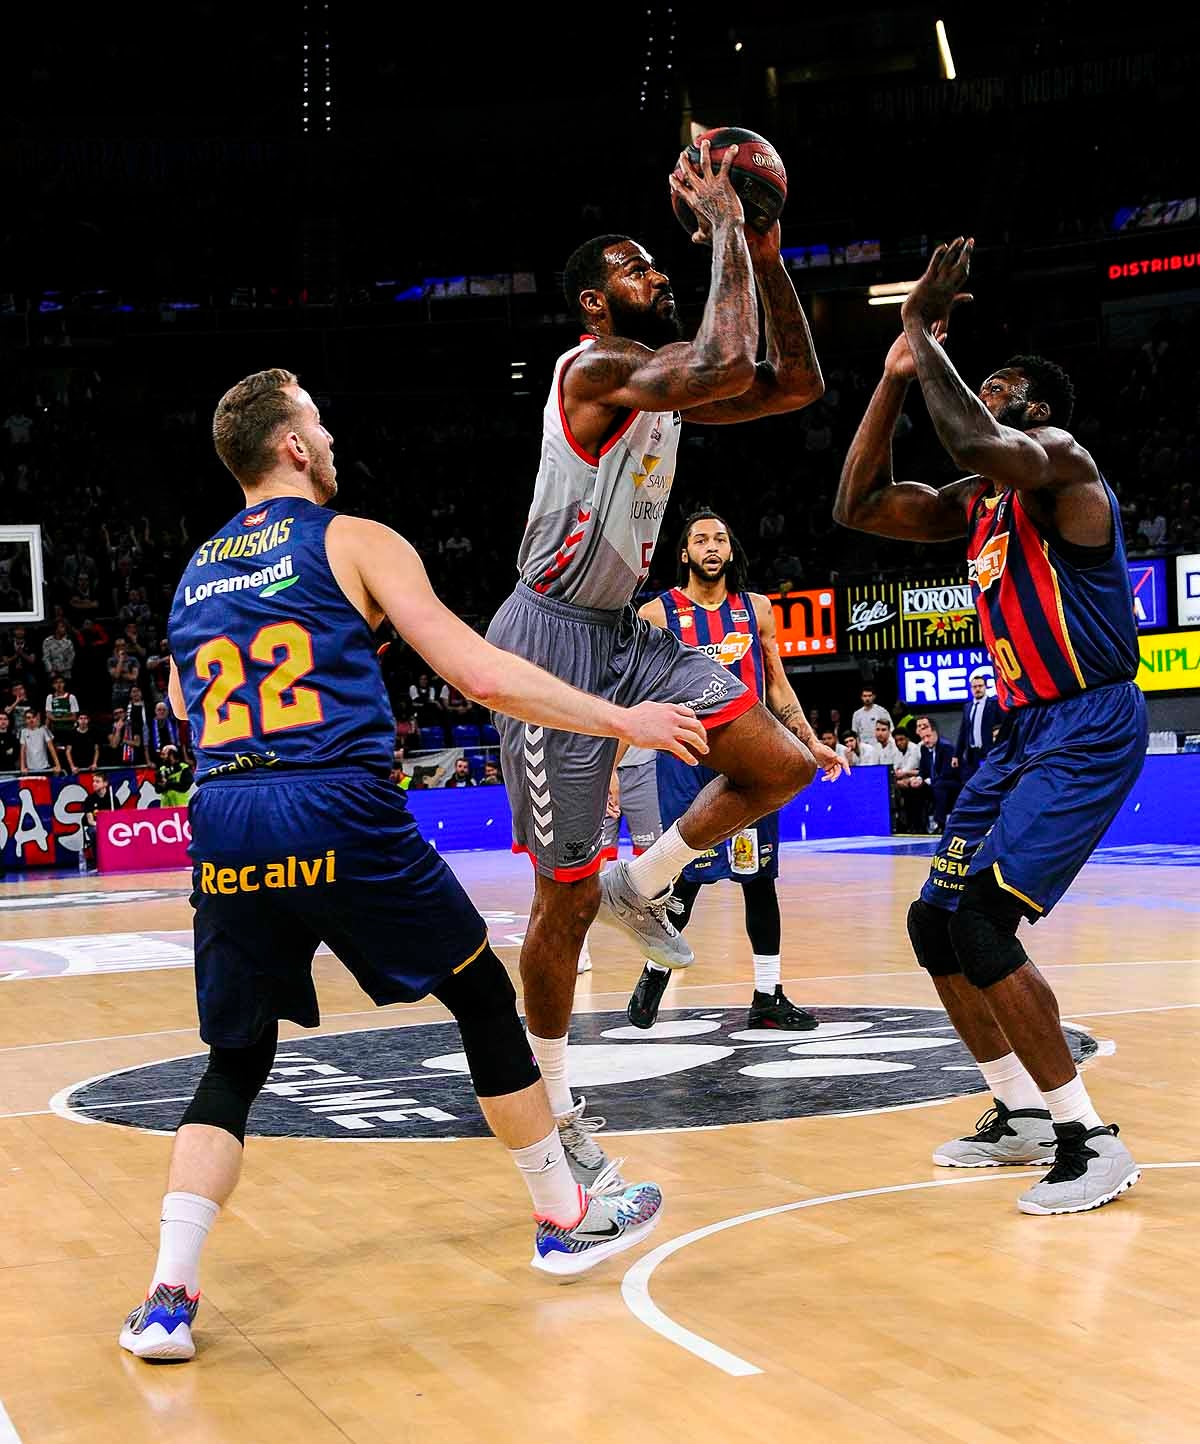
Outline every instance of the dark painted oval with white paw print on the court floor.
[[[803, 995], [801, 995], [803, 996]], [[745, 1008], [680, 1008], [643, 1032], [624, 1012], [572, 1018], [570, 1082], [609, 1132], [864, 1113], [983, 1093], [936, 1008], [816, 1008], [814, 1032], [747, 1030]], [[1076, 1058], [1096, 1040], [1067, 1027]], [[124, 1069], [56, 1099], [59, 1112], [173, 1129], [208, 1054]], [[968, 1109], [966, 1131], [973, 1113]], [[289, 1038], [250, 1113], [260, 1138], [479, 1138], [453, 1024]]]

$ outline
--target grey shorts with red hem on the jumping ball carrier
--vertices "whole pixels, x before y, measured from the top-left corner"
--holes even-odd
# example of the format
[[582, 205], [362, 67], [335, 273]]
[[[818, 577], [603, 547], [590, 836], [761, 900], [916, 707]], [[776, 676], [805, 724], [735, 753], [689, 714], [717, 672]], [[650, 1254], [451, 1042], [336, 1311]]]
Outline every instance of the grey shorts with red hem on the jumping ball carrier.
[[[755, 705], [732, 671], [651, 627], [632, 606], [592, 611], [517, 583], [492, 618], [488, 641], [618, 706], [682, 702], [706, 728], [732, 722]], [[495, 726], [513, 809], [513, 851], [529, 853], [537, 871], [557, 882], [598, 872], [617, 739], [531, 726], [501, 713]]]

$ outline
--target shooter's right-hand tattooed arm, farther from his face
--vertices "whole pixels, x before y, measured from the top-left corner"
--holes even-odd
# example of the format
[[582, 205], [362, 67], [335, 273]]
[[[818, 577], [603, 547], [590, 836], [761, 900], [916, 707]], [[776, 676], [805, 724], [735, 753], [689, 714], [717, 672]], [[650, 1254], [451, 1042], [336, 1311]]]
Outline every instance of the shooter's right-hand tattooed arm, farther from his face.
[[825, 380], [809, 321], [780, 257], [778, 221], [765, 235], [747, 232], [754, 277], [762, 297], [767, 358], [755, 367], [754, 386], [741, 396], [687, 412], [689, 422], [710, 426], [752, 422], [758, 416], [799, 412], [825, 396]]

